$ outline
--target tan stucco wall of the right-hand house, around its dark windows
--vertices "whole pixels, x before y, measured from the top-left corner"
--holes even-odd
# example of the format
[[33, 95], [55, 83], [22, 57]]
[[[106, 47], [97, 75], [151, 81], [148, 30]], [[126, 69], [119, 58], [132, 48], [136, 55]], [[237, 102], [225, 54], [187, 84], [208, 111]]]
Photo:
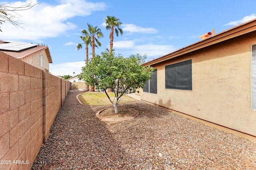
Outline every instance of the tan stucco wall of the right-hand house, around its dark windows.
[[[141, 91], [140, 98], [256, 136], [256, 111], [251, 110], [253, 44], [255, 33], [154, 64], [157, 94]], [[192, 91], [165, 89], [165, 66], [188, 59], [192, 59]]]

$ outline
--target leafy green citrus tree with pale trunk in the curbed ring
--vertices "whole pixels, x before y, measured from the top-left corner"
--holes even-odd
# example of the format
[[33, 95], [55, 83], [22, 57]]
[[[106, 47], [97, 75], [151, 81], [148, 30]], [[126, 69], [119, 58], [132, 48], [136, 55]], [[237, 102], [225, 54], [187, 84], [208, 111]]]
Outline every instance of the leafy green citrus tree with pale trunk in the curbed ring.
[[[151, 78], [154, 68], [141, 66], [146, 56], [137, 54], [125, 58], [122, 55], [115, 56], [114, 51], [111, 52], [106, 49], [101, 55], [90, 59], [86, 66], [82, 67], [79, 77], [102, 89], [112, 103], [115, 113], [118, 113], [117, 107], [121, 97], [143, 88]], [[115, 94], [114, 100], [110, 99], [106, 91], [108, 88]]]

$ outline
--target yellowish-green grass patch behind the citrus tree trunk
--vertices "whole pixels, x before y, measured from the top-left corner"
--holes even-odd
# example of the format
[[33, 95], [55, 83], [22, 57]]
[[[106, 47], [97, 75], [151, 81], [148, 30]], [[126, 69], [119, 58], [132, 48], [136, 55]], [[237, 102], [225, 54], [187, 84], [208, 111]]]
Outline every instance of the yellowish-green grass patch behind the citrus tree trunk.
[[[108, 96], [113, 101], [115, 94], [108, 93]], [[108, 99], [108, 96], [105, 93], [84, 93], [84, 94], [79, 95], [78, 99], [82, 102], [82, 104], [107, 105], [107, 104], [111, 104], [111, 102]], [[119, 103], [133, 102], [133, 101], [137, 101], [137, 100], [124, 95], [124, 96], [122, 96], [121, 101]], [[116, 103], [116, 99], [115, 99], [114, 103]]]

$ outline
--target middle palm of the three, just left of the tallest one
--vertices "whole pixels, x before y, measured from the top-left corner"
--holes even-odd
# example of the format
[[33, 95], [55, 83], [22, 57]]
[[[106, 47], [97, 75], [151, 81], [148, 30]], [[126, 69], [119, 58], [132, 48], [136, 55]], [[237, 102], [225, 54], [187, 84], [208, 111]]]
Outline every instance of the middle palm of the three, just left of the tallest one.
[[[94, 26], [90, 25], [89, 23], [87, 23], [87, 25], [88, 25], [89, 35], [90, 35], [91, 41], [92, 41], [92, 58], [94, 58], [95, 47], [98, 48], [98, 45], [101, 46], [101, 43], [97, 38], [101, 38], [104, 36], [103, 36], [103, 33], [101, 32], [100, 28], [98, 28], [98, 26], [94, 27]], [[95, 36], [97, 36], [97, 38]], [[95, 41], [97, 44], [95, 44]]]

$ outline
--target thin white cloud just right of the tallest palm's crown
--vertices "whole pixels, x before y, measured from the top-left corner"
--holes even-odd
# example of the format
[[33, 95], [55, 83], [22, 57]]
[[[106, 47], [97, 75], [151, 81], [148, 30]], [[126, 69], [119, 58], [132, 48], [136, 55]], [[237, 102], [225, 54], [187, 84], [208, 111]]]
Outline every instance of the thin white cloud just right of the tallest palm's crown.
[[134, 24], [123, 24], [123, 31], [128, 31], [130, 33], [157, 33], [157, 29], [154, 28], [143, 28]]

